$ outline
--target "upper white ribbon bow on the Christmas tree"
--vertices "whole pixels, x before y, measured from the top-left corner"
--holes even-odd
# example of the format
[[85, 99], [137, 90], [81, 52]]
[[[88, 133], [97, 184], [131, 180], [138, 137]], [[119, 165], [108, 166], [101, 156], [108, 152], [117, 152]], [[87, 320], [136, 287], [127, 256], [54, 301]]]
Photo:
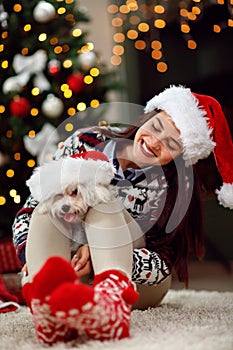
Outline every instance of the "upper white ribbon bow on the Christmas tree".
[[46, 91], [50, 88], [50, 83], [43, 74], [46, 67], [47, 54], [44, 50], [37, 50], [31, 56], [16, 54], [13, 59], [13, 69], [16, 73], [5, 80], [3, 83], [3, 92], [5, 94], [11, 91], [20, 91], [33, 76], [33, 84], [40, 91]]

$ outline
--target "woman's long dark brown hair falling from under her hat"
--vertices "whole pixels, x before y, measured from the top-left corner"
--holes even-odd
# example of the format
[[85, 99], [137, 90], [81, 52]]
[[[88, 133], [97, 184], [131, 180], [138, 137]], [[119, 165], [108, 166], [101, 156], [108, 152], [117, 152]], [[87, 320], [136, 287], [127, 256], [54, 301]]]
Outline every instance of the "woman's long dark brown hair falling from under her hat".
[[[133, 140], [138, 129], [158, 112], [144, 114], [134, 125], [124, 126], [120, 131], [106, 129], [104, 133], [117, 142], [121, 139]], [[162, 170], [168, 184], [167, 196], [157, 222], [146, 232], [147, 248], [168, 259], [179, 280], [188, 286], [190, 255], [199, 259], [204, 255], [201, 187], [195, 169], [186, 168], [182, 156], [163, 166]], [[187, 186], [188, 182], [193, 186]], [[171, 232], [167, 232], [171, 215], [177, 224]]]

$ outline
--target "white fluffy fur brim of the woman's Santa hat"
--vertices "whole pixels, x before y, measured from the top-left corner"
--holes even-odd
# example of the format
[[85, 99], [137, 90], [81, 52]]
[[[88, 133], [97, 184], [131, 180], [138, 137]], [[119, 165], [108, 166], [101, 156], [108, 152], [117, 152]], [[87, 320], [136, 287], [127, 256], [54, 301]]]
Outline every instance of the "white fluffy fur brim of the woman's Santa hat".
[[198, 100], [190, 89], [183, 86], [165, 89], [147, 103], [145, 113], [154, 109], [165, 111], [179, 129], [186, 166], [208, 157], [213, 151], [215, 142], [204, 117], [206, 112], [198, 106]]

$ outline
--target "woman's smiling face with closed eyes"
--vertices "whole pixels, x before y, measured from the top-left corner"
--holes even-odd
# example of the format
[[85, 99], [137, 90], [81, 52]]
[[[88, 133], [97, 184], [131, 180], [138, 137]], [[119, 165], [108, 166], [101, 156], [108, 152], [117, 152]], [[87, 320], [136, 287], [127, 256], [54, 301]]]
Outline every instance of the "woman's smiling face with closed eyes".
[[140, 167], [168, 164], [182, 151], [180, 132], [164, 111], [144, 123], [134, 138], [133, 157]]

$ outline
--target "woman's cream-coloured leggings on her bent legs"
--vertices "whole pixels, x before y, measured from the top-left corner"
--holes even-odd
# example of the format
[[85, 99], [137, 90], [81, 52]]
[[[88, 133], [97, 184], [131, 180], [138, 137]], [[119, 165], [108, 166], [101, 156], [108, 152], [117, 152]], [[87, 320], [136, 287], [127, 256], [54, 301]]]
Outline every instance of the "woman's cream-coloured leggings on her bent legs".
[[[45, 261], [54, 255], [71, 259], [70, 238], [58, 228], [47, 214], [33, 212], [26, 246], [29, 280]], [[118, 269], [131, 278], [133, 249], [145, 246], [144, 236], [136, 221], [122, 205], [114, 200], [90, 208], [85, 219], [85, 231], [94, 273]], [[134, 306], [138, 309], [157, 306], [171, 285], [168, 275], [161, 283], [149, 286], [136, 284], [140, 297]]]

